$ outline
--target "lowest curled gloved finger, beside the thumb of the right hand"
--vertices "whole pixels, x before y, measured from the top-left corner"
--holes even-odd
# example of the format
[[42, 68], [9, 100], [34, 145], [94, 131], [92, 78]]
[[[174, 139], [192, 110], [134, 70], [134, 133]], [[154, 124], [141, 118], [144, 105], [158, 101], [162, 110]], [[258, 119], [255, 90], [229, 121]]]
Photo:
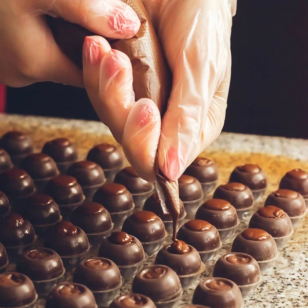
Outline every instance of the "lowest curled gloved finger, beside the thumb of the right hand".
[[129, 112], [122, 146], [127, 160], [149, 182], [155, 181], [154, 162], [160, 130], [161, 117], [157, 105], [150, 99], [140, 99]]

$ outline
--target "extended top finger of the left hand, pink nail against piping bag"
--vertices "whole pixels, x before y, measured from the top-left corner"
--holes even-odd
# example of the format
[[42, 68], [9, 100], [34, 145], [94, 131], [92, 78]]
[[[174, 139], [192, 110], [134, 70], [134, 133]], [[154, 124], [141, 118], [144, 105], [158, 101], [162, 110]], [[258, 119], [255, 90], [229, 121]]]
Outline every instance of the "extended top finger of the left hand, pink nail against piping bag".
[[134, 10], [121, 0], [32, 0], [33, 13], [60, 16], [66, 21], [111, 38], [130, 38], [140, 28]]

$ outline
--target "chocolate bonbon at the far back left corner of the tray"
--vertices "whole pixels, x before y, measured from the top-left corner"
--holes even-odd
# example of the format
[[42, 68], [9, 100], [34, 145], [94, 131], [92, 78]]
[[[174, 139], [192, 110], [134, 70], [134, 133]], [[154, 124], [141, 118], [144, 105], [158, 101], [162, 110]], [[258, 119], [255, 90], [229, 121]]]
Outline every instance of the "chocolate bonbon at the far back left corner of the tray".
[[11, 130], [0, 138], [0, 147], [5, 149], [15, 166], [33, 152], [32, 138], [25, 132]]

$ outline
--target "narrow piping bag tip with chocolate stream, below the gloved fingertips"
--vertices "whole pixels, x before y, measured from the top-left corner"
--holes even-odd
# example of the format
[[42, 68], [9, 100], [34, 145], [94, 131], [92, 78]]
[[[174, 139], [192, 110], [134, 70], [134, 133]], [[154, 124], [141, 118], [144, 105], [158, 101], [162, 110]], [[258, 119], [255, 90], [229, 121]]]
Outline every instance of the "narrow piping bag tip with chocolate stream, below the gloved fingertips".
[[165, 177], [158, 166], [158, 154], [155, 158], [156, 189], [164, 214], [170, 214], [173, 220], [172, 241], [177, 239], [177, 225], [180, 217], [179, 183]]

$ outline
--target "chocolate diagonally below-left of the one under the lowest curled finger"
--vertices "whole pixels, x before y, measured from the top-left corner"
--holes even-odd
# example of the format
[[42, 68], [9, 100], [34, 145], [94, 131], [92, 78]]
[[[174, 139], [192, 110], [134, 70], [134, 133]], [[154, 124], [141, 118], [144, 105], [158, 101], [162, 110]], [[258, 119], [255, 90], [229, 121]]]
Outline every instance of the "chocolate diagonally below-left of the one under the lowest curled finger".
[[109, 213], [119, 213], [133, 207], [130, 192], [125, 186], [107, 183], [100, 187], [93, 196], [93, 202], [103, 204]]

